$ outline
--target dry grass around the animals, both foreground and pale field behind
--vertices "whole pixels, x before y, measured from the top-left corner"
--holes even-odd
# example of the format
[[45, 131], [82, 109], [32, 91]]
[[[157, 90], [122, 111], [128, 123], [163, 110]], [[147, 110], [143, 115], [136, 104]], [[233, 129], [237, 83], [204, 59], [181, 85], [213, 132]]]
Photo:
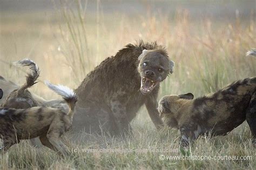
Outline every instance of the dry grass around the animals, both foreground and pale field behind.
[[[256, 74], [256, 59], [245, 57], [255, 47], [256, 25], [253, 15], [247, 21], [218, 22], [211, 19], [191, 21], [187, 11], [177, 11], [173, 18], [149, 11], [146, 16], [130, 18], [122, 13], [101, 15], [98, 23], [93, 16], [84, 17], [81, 11], [68, 6], [56, 13], [10, 14], [1, 18], [0, 59], [14, 62], [31, 58], [40, 66], [41, 80], [77, 87], [93, 67], [104, 58], [114, 55], [127, 43], [135, 40], [157, 41], [164, 45], [170, 58], [176, 62], [174, 74], [161, 84], [159, 97], [164, 94], [192, 92], [196, 97], [240, 78]], [[42, 19], [46, 15], [47, 19]], [[62, 18], [62, 19], [60, 19]], [[24, 73], [0, 63], [1, 75], [21, 84]], [[43, 84], [33, 92], [53, 98]], [[144, 108], [132, 122], [134, 137], [110, 139], [80, 135], [67, 140], [70, 148], [164, 148], [178, 152], [165, 155], [250, 155], [253, 160], [160, 160], [157, 152], [146, 153], [72, 153], [59, 158], [49, 149], [32, 148], [26, 141], [0, 156], [0, 167], [8, 168], [140, 168], [140, 169], [255, 169], [255, 148], [247, 123], [226, 137], [201, 138], [189, 151], [179, 151], [178, 131], [157, 132]]]

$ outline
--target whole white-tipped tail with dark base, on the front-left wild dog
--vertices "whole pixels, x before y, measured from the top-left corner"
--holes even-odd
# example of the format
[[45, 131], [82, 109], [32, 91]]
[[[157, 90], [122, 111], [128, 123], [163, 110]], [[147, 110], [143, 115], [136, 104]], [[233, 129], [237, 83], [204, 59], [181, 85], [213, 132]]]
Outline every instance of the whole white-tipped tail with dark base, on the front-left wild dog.
[[73, 114], [75, 111], [75, 106], [77, 102], [77, 95], [76, 93], [69, 89], [69, 87], [63, 86], [63, 85], [53, 85], [49, 81], [44, 81], [44, 83], [53, 91], [55, 91], [57, 94], [63, 97], [63, 99], [66, 101], [66, 103], [69, 105], [69, 113], [68, 115], [70, 118], [73, 118]]

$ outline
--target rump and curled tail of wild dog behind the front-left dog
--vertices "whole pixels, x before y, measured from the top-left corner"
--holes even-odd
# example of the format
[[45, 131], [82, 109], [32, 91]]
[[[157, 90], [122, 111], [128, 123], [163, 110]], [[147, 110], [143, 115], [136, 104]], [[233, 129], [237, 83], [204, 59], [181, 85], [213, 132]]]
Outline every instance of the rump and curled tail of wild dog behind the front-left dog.
[[29, 87], [37, 83], [36, 80], [39, 77], [38, 66], [30, 59], [23, 59], [16, 63], [21, 64], [22, 66], [30, 66], [32, 73], [29, 73], [28, 76], [26, 76], [26, 82], [24, 85], [12, 91], [8, 97], [6, 97], [2, 107], [29, 108], [38, 106], [38, 101], [34, 99], [32, 94], [27, 90]]

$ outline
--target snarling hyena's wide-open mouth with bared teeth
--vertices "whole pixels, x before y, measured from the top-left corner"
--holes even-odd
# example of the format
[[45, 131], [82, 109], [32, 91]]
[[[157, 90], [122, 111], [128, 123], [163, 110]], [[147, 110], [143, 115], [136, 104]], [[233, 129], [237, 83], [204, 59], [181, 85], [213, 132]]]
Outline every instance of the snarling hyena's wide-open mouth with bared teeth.
[[140, 92], [143, 94], [150, 94], [154, 87], [156, 87], [160, 81], [154, 81], [146, 77], [142, 77], [142, 82], [140, 84]]

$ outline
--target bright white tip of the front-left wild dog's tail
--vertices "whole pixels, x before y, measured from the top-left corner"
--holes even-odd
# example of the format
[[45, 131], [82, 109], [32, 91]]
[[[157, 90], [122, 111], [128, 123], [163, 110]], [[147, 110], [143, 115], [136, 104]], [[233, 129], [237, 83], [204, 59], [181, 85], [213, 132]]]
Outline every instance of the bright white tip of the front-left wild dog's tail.
[[75, 92], [67, 86], [63, 85], [53, 85], [49, 81], [44, 81], [45, 85], [48, 86], [51, 90], [55, 91], [57, 94], [63, 98], [72, 98], [76, 96]]

